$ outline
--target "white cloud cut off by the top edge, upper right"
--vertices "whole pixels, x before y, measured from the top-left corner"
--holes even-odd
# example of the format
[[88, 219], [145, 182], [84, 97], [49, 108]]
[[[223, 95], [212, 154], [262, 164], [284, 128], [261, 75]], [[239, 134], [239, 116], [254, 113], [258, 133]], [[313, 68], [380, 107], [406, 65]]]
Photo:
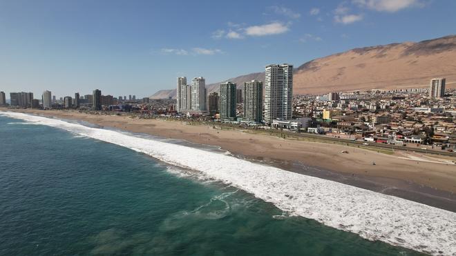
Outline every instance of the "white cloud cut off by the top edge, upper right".
[[363, 8], [379, 12], [397, 12], [412, 6], [422, 6], [419, 0], [352, 0], [353, 3]]

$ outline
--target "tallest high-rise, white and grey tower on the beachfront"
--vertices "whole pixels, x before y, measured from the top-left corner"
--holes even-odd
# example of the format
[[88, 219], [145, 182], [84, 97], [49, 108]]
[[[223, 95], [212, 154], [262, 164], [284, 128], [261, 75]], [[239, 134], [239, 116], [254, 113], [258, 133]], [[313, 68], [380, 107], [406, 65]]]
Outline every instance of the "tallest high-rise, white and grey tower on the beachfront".
[[265, 123], [292, 119], [293, 66], [269, 65], [265, 70]]

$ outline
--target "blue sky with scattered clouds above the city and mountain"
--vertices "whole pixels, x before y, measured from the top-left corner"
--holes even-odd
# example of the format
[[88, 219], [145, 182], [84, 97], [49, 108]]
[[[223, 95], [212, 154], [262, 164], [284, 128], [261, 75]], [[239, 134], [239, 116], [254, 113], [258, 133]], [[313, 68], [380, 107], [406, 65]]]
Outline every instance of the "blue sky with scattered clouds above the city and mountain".
[[153, 95], [456, 34], [454, 0], [0, 0], [0, 90]]

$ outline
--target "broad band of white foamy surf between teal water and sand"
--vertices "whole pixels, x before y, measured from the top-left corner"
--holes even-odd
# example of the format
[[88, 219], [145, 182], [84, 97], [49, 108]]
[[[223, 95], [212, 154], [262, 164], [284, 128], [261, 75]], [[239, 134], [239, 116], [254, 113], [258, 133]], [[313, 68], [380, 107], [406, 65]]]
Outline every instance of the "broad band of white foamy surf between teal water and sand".
[[357, 233], [433, 255], [456, 255], [456, 213], [415, 201], [288, 172], [217, 152], [144, 139], [126, 132], [90, 128], [58, 119], [3, 112], [32, 124], [68, 130], [144, 152], [160, 161], [198, 170], [300, 215], [333, 228]]

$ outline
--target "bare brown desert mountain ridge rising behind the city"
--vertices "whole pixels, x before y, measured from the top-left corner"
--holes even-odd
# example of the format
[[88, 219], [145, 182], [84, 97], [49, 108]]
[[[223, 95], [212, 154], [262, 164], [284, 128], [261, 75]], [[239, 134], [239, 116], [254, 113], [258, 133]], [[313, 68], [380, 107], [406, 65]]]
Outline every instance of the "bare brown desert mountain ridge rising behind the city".
[[[265, 63], [267, 64], [267, 63]], [[323, 94], [350, 90], [401, 89], [426, 87], [433, 77], [446, 77], [447, 88], [456, 87], [456, 35], [385, 46], [354, 48], [303, 63], [294, 63], [294, 94]], [[225, 81], [238, 88], [245, 81], [264, 81], [257, 72]], [[207, 92], [218, 90], [218, 83], [207, 84]], [[160, 90], [151, 99], [175, 97], [175, 89]]]

